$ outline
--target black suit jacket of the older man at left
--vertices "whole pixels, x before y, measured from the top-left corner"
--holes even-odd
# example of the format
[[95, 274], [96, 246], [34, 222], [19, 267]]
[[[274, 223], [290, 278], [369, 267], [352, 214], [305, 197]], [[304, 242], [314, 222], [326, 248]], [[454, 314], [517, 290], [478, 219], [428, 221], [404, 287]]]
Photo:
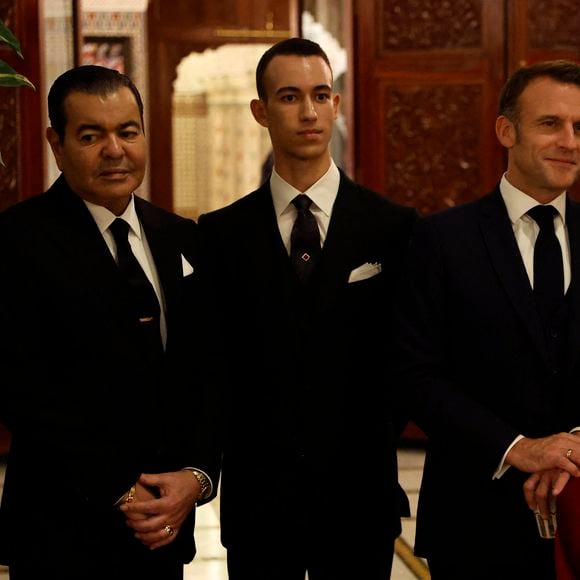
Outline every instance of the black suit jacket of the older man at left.
[[[114, 507], [139, 474], [196, 466], [218, 480], [205, 337], [193, 322], [197, 226], [138, 197], [135, 204], [166, 302], [161, 376], [139, 348], [115, 261], [63, 177], [0, 216], [0, 419], [12, 432], [3, 563], [63, 551], [102, 563], [148, 551]], [[182, 255], [194, 267], [188, 277]], [[191, 560], [193, 521], [159, 557]]]

